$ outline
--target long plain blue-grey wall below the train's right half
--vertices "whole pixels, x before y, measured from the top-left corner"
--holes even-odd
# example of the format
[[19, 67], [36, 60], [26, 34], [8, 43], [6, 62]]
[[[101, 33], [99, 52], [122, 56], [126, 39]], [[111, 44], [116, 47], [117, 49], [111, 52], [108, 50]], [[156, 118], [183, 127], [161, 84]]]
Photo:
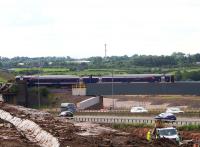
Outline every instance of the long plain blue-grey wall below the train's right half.
[[87, 95], [200, 95], [200, 82], [87, 84], [86, 94]]

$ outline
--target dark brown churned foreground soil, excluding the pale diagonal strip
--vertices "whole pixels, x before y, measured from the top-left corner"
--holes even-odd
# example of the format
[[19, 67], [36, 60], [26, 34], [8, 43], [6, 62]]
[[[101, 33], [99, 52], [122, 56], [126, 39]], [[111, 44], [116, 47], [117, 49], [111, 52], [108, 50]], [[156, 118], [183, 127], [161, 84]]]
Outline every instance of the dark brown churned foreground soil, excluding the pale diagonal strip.
[[[175, 147], [177, 144], [168, 139], [160, 139], [148, 142], [145, 139], [146, 128], [132, 128], [120, 131], [104, 131], [98, 135], [78, 135], [86, 130], [75, 126], [64, 118], [56, 118], [46, 112], [26, 109], [19, 106], [4, 104], [1, 109], [10, 112], [12, 115], [30, 119], [37, 123], [41, 128], [57, 137], [61, 147]], [[0, 147], [37, 147], [36, 144], [28, 141], [23, 134], [15, 129], [12, 125], [1, 120], [0, 129]], [[9, 125], [8, 125], [9, 124]], [[91, 129], [95, 129], [95, 126]], [[123, 131], [127, 133], [122, 133]], [[183, 132], [184, 134], [185, 132]], [[189, 133], [189, 132], [187, 132]], [[185, 133], [185, 138], [196, 138], [199, 134]], [[190, 138], [190, 139], [191, 139]]]

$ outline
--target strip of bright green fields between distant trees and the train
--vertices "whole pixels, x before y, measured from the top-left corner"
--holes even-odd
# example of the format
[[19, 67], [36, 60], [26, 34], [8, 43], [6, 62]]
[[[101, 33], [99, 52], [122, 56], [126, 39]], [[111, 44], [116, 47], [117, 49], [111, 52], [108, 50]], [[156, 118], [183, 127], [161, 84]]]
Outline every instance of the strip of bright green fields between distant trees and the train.
[[[123, 74], [176, 74], [180, 71], [185, 72], [200, 72], [198, 67], [181, 67], [181, 68], [145, 68], [135, 67], [130, 69], [84, 69], [70, 70], [69, 68], [13, 68], [14, 75], [77, 75], [77, 76], [105, 76], [105, 75], [123, 75]], [[187, 78], [186, 78], [187, 79]]]

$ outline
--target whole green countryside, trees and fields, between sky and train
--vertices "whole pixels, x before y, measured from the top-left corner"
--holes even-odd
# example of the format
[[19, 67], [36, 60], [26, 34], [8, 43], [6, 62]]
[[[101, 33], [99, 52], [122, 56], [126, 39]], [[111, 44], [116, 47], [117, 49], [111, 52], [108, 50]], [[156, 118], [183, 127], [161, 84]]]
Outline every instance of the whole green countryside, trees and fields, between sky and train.
[[[44, 74], [105, 75], [112, 69], [115, 74], [172, 73], [176, 80], [200, 80], [200, 54], [173, 53], [170, 56], [133, 55], [90, 57], [73, 59], [67, 57], [0, 57], [0, 68], [25, 68], [15, 74], [37, 74], [43, 68]], [[47, 68], [47, 69], [45, 69]], [[50, 68], [50, 69], [49, 69]], [[54, 72], [52, 72], [52, 71]], [[15, 70], [16, 71], [16, 70]], [[77, 72], [78, 71], [78, 72]], [[41, 70], [40, 70], [41, 73]]]

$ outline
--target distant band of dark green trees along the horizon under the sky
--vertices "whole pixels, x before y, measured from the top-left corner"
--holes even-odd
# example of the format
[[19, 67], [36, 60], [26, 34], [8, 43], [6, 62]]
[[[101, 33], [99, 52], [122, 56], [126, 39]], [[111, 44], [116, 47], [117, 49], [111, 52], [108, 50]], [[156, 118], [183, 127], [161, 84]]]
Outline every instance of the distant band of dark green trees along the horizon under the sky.
[[152, 56], [152, 55], [133, 55], [133, 56], [111, 56], [111, 57], [90, 57], [81, 59], [82, 61], [90, 62], [76, 62], [77, 59], [67, 57], [14, 57], [6, 58], [0, 57], [1, 68], [17, 68], [17, 67], [65, 67], [69, 69], [76, 69], [77, 65], [80, 68], [134, 68], [140, 67], [185, 67], [196, 65], [200, 62], [200, 54], [186, 55], [178, 52], [171, 56]]

